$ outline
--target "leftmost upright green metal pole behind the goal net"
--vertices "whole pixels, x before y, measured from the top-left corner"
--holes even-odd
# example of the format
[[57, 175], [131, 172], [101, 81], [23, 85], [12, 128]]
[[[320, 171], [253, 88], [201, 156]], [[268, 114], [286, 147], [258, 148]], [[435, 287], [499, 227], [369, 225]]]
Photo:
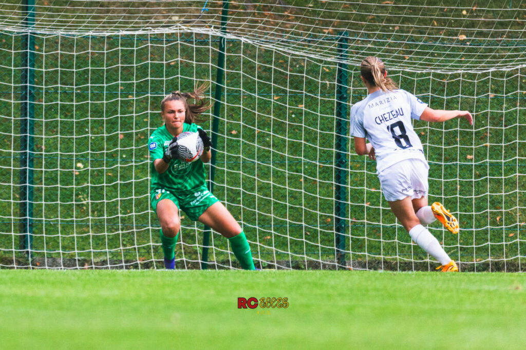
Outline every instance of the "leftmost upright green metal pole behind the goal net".
[[20, 121], [20, 248], [26, 252], [31, 264], [33, 243], [33, 135], [35, 118], [35, 37], [31, 28], [35, 24], [35, 0], [25, 0], [24, 22], [28, 32], [22, 35], [22, 93]]

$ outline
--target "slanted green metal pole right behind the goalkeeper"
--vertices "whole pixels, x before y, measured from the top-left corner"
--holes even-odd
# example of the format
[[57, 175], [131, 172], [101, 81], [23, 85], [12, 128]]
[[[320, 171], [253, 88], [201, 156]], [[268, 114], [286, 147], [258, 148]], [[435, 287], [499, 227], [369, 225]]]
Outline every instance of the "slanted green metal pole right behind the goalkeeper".
[[[228, 18], [228, 0], [223, 1], [223, 9], [221, 12], [221, 33], [227, 33], [227, 18]], [[216, 96], [214, 102], [214, 120], [212, 122], [212, 144], [217, 145], [217, 132], [219, 129], [219, 112], [221, 110], [221, 95], [223, 75], [225, 73], [225, 51], [226, 51], [226, 36], [219, 40], [219, 56], [217, 58], [217, 76], [216, 76]], [[214, 190], [214, 176], [216, 173], [216, 152], [212, 151], [212, 158], [210, 160], [210, 179], [208, 181], [208, 190]], [[203, 236], [203, 254], [201, 254], [201, 269], [208, 268], [208, 244], [210, 242], [210, 228], [205, 226], [205, 234]]]

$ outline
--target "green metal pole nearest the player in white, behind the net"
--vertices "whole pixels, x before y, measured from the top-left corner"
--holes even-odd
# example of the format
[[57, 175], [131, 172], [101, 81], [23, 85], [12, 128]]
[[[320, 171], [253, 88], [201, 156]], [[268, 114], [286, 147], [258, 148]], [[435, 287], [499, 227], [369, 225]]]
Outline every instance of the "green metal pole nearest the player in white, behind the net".
[[336, 186], [335, 186], [335, 235], [337, 268], [345, 266], [345, 229], [347, 213], [347, 88], [348, 73], [346, 31], [338, 37], [338, 62], [336, 78]]

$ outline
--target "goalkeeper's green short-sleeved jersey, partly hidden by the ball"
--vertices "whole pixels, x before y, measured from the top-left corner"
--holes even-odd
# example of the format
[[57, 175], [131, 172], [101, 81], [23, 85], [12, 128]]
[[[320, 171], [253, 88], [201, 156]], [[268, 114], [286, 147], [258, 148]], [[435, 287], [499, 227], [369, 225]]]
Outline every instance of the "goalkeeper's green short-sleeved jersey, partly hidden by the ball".
[[[201, 129], [197, 124], [183, 123], [183, 132], [197, 132], [197, 129]], [[166, 125], [163, 125], [157, 128], [148, 140], [151, 160], [150, 190], [166, 188], [174, 195], [184, 195], [206, 184], [205, 165], [200, 158], [192, 163], [174, 159], [170, 161], [166, 172], [159, 174], [154, 161], [163, 158], [164, 151], [173, 138], [174, 136], [166, 130]]]

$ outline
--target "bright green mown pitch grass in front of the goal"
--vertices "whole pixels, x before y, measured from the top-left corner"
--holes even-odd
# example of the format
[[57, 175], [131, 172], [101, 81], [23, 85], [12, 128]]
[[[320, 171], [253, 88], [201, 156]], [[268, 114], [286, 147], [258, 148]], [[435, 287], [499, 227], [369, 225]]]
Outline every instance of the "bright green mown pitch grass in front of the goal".
[[[3, 270], [2, 349], [519, 349], [526, 275]], [[237, 298], [287, 297], [287, 309]], [[267, 314], [268, 311], [268, 314]]]

